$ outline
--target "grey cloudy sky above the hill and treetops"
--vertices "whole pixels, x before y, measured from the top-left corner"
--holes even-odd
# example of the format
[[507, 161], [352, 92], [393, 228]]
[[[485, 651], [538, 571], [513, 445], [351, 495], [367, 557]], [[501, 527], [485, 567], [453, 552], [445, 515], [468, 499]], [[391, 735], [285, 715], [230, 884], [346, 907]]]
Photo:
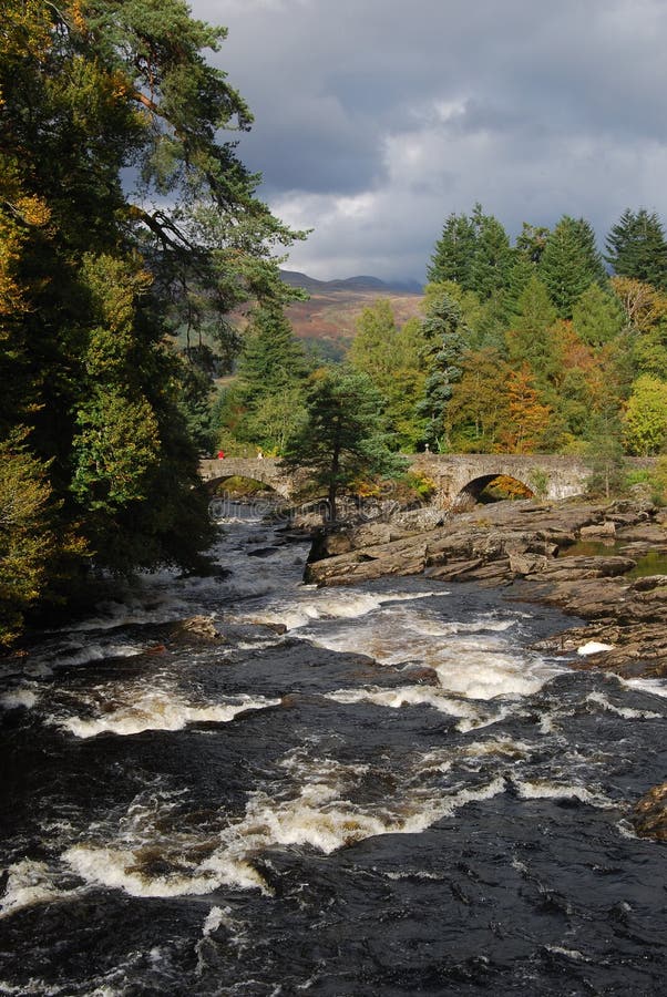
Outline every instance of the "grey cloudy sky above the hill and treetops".
[[450, 212], [511, 237], [625, 207], [665, 220], [665, 0], [191, 0], [255, 114], [263, 198], [314, 228], [288, 266], [422, 279]]

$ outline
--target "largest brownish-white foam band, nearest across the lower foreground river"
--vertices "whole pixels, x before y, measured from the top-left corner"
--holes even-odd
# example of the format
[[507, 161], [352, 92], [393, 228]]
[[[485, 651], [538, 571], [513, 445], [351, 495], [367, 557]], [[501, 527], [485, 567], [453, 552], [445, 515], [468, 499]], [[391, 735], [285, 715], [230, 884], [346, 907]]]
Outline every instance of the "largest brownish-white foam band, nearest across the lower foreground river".
[[[419, 834], [461, 806], [505, 790], [502, 778], [484, 785], [448, 789], [442, 783], [445, 763], [430, 765], [424, 782], [423, 760], [418, 758], [393, 795], [382, 803], [353, 803], [348, 799], [350, 789], [369, 774], [368, 765], [312, 759], [297, 750], [286, 756], [283, 768], [293, 777], [284, 795], [252, 793], [245, 814], [207, 842], [211, 853], [204, 859], [196, 830], [181, 830], [182, 824], [174, 821], [176, 830], [171, 834], [164, 831], [165, 806], [173, 804], [162, 800], [153, 810], [137, 804], [121, 822], [115, 841], [81, 841], [63, 853], [62, 861], [88, 885], [117, 888], [132, 896], [207, 894], [222, 886], [258, 888], [270, 895], [270, 887], [253, 865], [254, 856], [267, 849], [306, 846], [330, 854], [379, 834]], [[156, 859], [158, 874], [152, 872]], [[165, 865], [167, 872], [162, 871]], [[213, 908], [204, 935], [222, 923]]]

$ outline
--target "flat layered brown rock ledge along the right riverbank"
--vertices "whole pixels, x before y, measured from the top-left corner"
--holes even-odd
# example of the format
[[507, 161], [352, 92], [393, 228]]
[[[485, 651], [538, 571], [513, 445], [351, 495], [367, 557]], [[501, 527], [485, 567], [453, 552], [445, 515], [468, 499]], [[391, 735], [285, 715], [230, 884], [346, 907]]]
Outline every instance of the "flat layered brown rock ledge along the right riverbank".
[[[594, 543], [595, 553], [568, 556], [581, 541]], [[502, 586], [506, 596], [588, 621], [541, 643], [542, 648], [585, 651], [576, 667], [661, 678], [667, 676], [667, 575], [628, 577], [650, 553], [667, 556], [667, 513], [650, 503], [499, 502], [431, 528], [390, 521], [321, 534], [305, 580], [347, 585], [423, 574]]]

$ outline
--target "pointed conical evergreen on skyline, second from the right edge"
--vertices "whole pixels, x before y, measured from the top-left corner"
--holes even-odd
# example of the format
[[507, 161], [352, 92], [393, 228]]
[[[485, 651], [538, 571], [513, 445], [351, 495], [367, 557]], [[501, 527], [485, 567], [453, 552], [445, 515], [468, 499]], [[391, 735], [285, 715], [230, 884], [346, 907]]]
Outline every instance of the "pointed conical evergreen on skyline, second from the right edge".
[[538, 276], [562, 318], [572, 318], [575, 301], [587, 287], [605, 282], [602, 256], [587, 222], [568, 215], [561, 218], [546, 240]]

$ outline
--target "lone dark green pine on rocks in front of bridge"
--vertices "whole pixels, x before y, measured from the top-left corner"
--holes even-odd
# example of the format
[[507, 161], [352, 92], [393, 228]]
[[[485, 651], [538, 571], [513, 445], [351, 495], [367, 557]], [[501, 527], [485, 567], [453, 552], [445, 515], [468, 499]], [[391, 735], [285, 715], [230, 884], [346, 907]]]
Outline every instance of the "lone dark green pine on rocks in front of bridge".
[[306, 394], [306, 418], [288, 440], [284, 466], [305, 469], [327, 492], [328, 516], [337, 500], [361, 477], [400, 474], [406, 461], [389, 449], [383, 399], [368, 374], [348, 368], [316, 371]]

